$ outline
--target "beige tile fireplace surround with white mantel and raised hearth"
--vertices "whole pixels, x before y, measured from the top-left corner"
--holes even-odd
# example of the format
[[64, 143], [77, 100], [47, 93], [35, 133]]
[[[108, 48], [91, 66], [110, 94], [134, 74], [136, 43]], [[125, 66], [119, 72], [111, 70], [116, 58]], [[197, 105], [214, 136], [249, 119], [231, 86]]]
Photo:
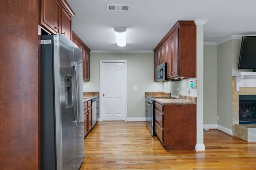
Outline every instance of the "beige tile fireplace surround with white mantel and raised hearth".
[[[256, 73], [255, 78], [250, 80], [254, 82], [253, 85], [251, 83], [244, 83], [241, 84], [242, 87], [237, 87], [240, 82], [237, 82], [236, 79], [240, 80], [240, 76], [242, 75], [239, 73], [233, 74], [232, 76], [232, 131], [234, 136], [246, 140], [248, 142], [255, 142], [256, 141], [256, 124], [239, 124], [239, 115], [238, 115], [238, 104], [239, 104], [239, 95], [256, 95]], [[244, 87], [246, 86], [246, 87]]]

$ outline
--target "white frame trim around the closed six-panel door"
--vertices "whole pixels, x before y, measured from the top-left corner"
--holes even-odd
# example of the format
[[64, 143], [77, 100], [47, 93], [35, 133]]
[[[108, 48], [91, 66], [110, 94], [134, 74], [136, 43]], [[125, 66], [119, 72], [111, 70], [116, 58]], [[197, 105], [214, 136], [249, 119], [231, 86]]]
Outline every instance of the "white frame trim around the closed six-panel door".
[[[103, 63], [124, 63], [125, 69], [124, 69], [124, 76], [125, 76], [125, 82], [124, 82], [124, 121], [127, 122], [127, 60], [100, 60], [100, 96], [99, 96], [99, 100], [100, 100], [100, 108], [103, 108], [103, 103], [102, 101], [102, 97], [103, 97], [103, 93], [102, 93], [102, 65]], [[99, 121], [102, 121], [102, 109], [100, 109], [100, 118]]]

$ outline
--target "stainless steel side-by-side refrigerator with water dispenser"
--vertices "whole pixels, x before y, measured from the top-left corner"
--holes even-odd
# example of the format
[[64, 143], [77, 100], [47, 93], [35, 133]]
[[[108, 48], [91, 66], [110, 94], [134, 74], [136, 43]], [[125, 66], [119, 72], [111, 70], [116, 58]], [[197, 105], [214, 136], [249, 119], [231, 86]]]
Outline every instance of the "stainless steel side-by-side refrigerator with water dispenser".
[[61, 34], [42, 35], [40, 57], [41, 170], [78, 170], [84, 159], [82, 51]]

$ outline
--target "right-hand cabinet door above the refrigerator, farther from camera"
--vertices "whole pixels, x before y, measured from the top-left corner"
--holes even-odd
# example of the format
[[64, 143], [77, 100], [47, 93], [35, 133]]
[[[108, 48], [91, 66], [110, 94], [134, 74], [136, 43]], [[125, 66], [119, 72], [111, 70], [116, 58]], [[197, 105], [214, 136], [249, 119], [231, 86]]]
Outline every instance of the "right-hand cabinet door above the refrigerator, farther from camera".
[[60, 34], [70, 40], [71, 38], [71, 16], [66, 13], [64, 8], [61, 8], [60, 13]]

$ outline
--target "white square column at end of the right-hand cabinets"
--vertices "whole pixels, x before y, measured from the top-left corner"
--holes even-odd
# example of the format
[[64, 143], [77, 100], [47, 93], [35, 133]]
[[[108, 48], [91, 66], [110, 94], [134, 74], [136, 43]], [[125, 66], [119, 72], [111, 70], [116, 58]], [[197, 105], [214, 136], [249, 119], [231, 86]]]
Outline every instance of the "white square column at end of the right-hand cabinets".
[[208, 20], [194, 20], [196, 24], [196, 151], [204, 151], [204, 24]]

